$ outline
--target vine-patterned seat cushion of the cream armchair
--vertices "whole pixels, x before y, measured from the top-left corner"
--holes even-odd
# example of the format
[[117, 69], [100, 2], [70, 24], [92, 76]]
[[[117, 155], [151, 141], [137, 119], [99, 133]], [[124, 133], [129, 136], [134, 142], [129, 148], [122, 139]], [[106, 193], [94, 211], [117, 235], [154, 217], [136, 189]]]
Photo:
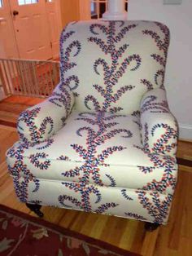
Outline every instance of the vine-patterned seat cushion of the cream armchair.
[[73, 111], [50, 139], [15, 143], [7, 152], [11, 175], [172, 193], [176, 160], [143, 150], [139, 120]]

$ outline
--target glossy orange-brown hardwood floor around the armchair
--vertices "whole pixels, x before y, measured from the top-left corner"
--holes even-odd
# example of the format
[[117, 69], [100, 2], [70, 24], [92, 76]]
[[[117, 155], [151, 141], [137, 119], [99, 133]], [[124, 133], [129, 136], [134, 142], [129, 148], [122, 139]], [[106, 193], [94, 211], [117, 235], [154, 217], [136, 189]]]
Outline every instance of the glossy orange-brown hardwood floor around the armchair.
[[[0, 204], [24, 213], [31, 213], [15, 196], [7, 172], [5, 152], [18, 139], [14, 126], [18, 114], [42, 99], [11, 97], [0, 102]], [[3, 123], [1, 121], [7, 121]], [[7, 126], [8, 125], [8, 126]], [[192, 143], [180, 141], [177, 157], [192, 161]], [[145, 232], [144, 223], [102, 214], [88, 214], [43, 206], [45, 219], [62, 227], [92, 236], [141, 255], [192, 255], [192, 168], [179, 166], [177, 189], [167, 226]]]

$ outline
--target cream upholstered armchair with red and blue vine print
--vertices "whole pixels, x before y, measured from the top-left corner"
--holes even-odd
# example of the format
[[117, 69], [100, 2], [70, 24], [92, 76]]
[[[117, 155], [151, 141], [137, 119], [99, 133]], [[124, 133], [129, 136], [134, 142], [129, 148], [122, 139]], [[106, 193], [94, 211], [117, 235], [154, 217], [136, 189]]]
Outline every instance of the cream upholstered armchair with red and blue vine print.
[[[168, 222], [177, 121], [164, 89], [169, 31], [151, 21], [68, 24], [60, 83], [18, 119], [7, 152], [20, 201]], [[152, 226], [151, 226], [152, 227]]]

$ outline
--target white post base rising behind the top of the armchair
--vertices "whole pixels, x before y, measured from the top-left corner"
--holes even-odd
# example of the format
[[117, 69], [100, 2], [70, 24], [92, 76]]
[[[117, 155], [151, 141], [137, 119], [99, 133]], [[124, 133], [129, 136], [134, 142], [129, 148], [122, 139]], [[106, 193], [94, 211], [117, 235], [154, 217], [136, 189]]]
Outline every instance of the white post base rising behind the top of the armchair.
[[108, 11], [103, 14], [103, 20], [127, 20], [124, 0], [108, 0]]

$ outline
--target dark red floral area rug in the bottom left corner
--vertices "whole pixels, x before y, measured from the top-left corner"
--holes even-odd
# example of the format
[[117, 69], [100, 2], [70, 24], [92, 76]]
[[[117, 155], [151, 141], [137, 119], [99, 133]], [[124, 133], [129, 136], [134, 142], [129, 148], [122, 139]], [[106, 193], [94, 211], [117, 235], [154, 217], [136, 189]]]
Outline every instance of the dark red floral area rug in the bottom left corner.
[[138, 255], [0, 205], [1, 256]]

